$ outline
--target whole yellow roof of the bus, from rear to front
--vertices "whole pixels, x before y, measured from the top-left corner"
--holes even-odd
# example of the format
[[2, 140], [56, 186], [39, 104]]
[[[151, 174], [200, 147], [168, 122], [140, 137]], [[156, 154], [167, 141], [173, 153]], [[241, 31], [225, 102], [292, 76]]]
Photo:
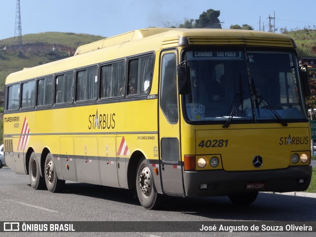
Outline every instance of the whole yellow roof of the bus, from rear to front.
[[185, 45], [296, 47], [287, 35], [249, 30], [147, 28], [79, 46], [75, 56], [10, 74], [6, 84]]

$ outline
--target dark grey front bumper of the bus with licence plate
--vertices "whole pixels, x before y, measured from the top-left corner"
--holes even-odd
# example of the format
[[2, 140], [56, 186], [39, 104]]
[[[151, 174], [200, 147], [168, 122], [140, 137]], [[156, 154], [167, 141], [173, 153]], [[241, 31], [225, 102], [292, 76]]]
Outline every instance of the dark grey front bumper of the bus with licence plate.
[[[225, 196], [258, 191], [283, 193], [307, 190], [311, 177], [311, 165], [256, 171], [184, 171], [184, 187], [187, 197]], [[249, 189], [249, 184], [260, 185]]]

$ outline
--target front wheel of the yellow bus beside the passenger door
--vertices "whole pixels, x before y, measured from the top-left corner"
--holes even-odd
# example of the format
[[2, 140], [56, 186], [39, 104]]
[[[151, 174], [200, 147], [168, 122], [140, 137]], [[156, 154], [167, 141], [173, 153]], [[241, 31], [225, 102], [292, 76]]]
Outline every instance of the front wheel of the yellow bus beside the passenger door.
[[145, 158], [138, 162], [136, 173], [136, 191], [140, 204], [146, 209], [161, 207], [162, 195], [154, 189], [152, 173]]

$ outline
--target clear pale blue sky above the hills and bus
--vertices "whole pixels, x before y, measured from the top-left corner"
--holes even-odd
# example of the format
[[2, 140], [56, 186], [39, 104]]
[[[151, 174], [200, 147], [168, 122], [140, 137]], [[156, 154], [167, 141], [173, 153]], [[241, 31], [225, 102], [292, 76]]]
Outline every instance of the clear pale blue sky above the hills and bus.
[[[0, 40], [14, 37], [17, 0], [0, 0]], [[71, 32], [111, 37], [136, 29], [168, 27], [220, 10], [223, 29], [248, 24], [269, 30], [316, 27], [315, 8], [297, 0], [20, 0], [22, 35]], [[279, 32], [279, 31], [277, 31]]]

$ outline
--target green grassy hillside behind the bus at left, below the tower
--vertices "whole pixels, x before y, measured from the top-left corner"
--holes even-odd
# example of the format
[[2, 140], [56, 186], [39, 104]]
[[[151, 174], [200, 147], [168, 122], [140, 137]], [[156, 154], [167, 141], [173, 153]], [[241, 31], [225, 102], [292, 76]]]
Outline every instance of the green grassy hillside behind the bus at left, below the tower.
[[10, 73], [69, 57], [79, 45], [104, 38], [60, 32], [29, 34], [23, 36], [24, 46], [21, 50], [12, 46], [13, 38], [0, 40], [0, 91]]

